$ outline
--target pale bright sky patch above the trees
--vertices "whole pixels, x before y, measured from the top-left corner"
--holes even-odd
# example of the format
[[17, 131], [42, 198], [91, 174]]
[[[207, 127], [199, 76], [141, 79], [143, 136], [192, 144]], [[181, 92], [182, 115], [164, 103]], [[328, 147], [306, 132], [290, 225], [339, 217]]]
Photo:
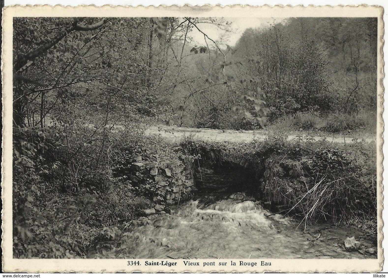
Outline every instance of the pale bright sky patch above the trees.
[[[214, 41], [219, 41], [221, 38], [222, 40], [222, 47], [225, 47], [225, 44], [230, 45], [233, 47], [237, 40], [240, 38], [242, 33], [248, 28], [265, 28], [270, 26], [270, 24], [279, 23], [284, 20], [284, 18], [252, 18], [252, 17], [244, 17], [244, 18], [225, 18], [226, 21], [232, 22], [230, 24], [232, 32], [226, 33], [223, 30], [219, 30], [217, 26], [214, 26], [213, 24], [206, 24], [206, 23], [200, 23], [197, 24], [198, 28], [201, 29], [206, 35], [209, 36]], [[191, 36], [193, 38], [193, 42], [191, 45], [197, 44], [198, 46], [206, 46], [204, 36], [202, 33], [200, 33], [197, 29], [193, 28], [193, 31], [191, 32]], [[207, 40], [209, 47], [212, 43], [210, 40]], [[214, 45], [213, 45], [214, 46]]]

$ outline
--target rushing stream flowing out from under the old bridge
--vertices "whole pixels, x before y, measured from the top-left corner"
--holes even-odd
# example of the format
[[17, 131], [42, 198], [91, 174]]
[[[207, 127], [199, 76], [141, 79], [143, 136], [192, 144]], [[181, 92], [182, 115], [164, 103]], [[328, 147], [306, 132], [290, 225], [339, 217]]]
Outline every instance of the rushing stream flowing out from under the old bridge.
[[[300, 220], [272, 214], [236, 183], [236, 173], [202, 169], [196, 198], [170, 207], [171, 212], [140, 218], [121, 238], [127, 258], [376, 258], [348, 252], [346, 237], [355, 236], [365, 248], [373, 243], [354, 228], [330, 222], [307, 226]], [[234, 177], [234, 180], [233, 178]], [[233, 183], [236, 186], [233, 187]], [[226, 186], [229, 185], [229, 186]], [[92, 257], [99, 257], [94, 254]]]

